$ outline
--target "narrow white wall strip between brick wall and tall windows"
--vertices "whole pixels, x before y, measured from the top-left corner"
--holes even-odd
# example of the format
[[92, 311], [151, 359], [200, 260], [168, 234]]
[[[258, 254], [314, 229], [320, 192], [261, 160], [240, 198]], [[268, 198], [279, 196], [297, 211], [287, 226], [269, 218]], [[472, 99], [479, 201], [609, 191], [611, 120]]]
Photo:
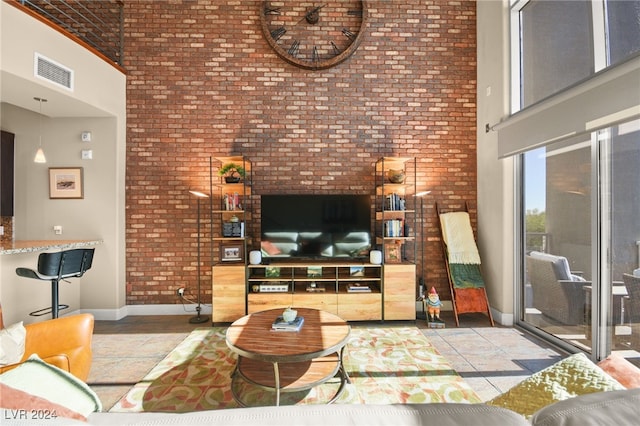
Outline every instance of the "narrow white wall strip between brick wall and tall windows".
[[514, 322], [513, 160], [498, 159], [497, 133], [485, 125], [509, 113], [508, 1], [477, 2], [478, 246], [496, 321]]

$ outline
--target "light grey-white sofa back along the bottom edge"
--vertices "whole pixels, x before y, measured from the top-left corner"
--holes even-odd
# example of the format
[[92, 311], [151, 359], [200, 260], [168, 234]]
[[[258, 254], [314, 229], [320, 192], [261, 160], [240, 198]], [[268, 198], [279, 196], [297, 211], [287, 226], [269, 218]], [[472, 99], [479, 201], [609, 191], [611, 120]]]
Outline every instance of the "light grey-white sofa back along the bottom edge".
[[[0, 413], [3, 424], [32, 425], [434, 425], [434, 426], [602, 426], [638, 421], [640, 389], [598, 392], [547, 406], [530, 420], [484, 404], [296, 405], [171, 413], [93, 413], [87, 422], [56, 417], [39, 422], [15, 412]], [[6, 422], [6, 423], [5, 423]]]

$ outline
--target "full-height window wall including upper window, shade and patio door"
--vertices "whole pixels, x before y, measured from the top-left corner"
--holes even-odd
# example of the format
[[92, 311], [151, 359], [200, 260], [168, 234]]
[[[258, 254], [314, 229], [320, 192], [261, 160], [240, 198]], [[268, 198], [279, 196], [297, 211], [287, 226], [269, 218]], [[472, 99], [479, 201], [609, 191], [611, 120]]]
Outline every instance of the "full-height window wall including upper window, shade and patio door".
[[640, 306], [622, 285], [640, 268], [640, 2], [514, 0], [511, 17], [513, 115], [498, 139], [520, 155], [516, 322], [598, 359], [640, 357]]

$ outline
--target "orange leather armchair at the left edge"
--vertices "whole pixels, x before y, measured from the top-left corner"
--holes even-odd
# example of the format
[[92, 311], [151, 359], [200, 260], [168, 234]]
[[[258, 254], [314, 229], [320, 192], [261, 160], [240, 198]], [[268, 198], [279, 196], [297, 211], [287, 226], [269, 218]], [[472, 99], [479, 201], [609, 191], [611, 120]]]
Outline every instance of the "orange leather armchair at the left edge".
[[[70, 372], [86, 382], [91, 369], [93, 337], [93, 315], [78, 314], [34, 324], [26, 324], [24, 362], [32, 354], [37, 354], [43, 361]], [[0, 328], [2, 307], [0, 307]], [[0, 373], [20, 365], [11, 364], [0, 367]]]

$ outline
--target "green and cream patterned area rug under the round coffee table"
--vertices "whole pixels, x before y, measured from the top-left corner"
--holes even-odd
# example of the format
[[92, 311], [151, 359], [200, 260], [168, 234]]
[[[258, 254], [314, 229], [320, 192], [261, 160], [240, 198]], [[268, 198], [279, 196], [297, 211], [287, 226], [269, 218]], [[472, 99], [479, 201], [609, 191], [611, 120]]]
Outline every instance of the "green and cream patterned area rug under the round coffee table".
[[[225, 327], [193, 331], [112, 408], [111, 412], [190, 412], [238, 407], [231, 392], [236, 355]], [[481, 402], [416, 327], [352, 326], [344, 365], [351, 384], [336, 404]], [[283, 393], [281, 405], [318, 404], [333, 396], [333, 379], [303, 392]], [[240, 383], [251, 405], [275, 405], [275, 393]]]

